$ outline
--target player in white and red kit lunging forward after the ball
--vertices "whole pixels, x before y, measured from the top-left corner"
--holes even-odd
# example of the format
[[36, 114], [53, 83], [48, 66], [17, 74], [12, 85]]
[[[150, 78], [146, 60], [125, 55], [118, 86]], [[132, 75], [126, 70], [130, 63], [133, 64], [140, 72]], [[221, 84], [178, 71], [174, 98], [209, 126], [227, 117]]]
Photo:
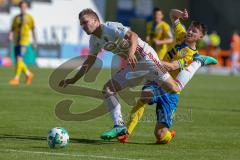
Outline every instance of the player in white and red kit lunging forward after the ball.
[[[169, 66], [171, 63], [160, 61], [152, 47], [141, 40], [138, 35], [128, 27], [117, 22], [101, 24], [99, 17], [91, 9], [82, 10], [79, 13], [79, 20], [83, 30], [91, 35], [89, 42], [90, 53], [79, 72], [73, 78], [62, 80], [59, 84], [60, 87], [74, 84], [87, 73], [94, 64], [97, 54], [101, 52], [102, 49], [118, 54], [129, 62], [103, 87], [102, 93], [111, 112], [114, 127], [104, 132], [101, 135], [102, 139], [111, 139], [127, 131], [121, 114], [121, 105], [116, 93], [126, 87], [136, 86], [135, 79], [129, 78], [131, 77], [130, 73], [133, 73], [133, 77], [139, 73], [139, 76], [149, 81], [155, 81], [168, 91], [179, 92], [201, 66], [195, 67], [188, 72], [180, 72], [180, 76], [178, 76], [180, 78], [174, 80], [164, 67], [171, 68], [172, 66]], [[207, 56], [202, 56], [202, 60], [202, 64], [204, 65], [214, 63], [212, 59]]]

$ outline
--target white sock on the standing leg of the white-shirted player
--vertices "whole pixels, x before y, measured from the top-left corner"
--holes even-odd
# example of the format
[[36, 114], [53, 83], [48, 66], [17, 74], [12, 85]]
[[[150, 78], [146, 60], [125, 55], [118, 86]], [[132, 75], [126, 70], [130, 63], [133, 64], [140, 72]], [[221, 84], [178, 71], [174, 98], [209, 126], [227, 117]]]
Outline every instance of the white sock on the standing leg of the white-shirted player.
[[106, 103], [108, 105], [108, 109], [111, 112], [112, 119], [114, 122], [114, 126], [122, 126], [124, 125], [124, 121], [122, 119], [121, 105], [115, 95], [111, 95], [106, 98]]

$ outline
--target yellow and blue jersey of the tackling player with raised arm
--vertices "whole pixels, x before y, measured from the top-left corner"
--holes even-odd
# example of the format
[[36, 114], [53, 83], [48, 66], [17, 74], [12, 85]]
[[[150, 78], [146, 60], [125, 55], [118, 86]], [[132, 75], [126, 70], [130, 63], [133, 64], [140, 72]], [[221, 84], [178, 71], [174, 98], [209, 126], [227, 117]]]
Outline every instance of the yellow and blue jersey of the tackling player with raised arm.
[[163, 58], [163, 61], [172, 62], [177, 60], [180, 69], [171, 71], [170, 74], [175, 79], [181, 69], [186, 68], [193, 60], [193, 55], [198, 53], [198, 50], [190, 48], [185, 43], [185, 38], [187, 35], [185, 27], [180, 21], [177, 21], [173, 26], [174, 29], [174, 43], [169, 48], [167, 54]]

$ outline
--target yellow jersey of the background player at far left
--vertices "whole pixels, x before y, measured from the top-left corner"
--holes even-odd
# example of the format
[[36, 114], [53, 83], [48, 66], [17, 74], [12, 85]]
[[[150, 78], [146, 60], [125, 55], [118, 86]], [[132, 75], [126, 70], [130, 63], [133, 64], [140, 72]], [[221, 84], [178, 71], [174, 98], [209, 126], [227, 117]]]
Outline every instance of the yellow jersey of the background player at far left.
[[12, 31], [14, 35], [15, 46], [27, 46], [30, 43], [30, 31], [34, 29], [35, 24], [30, 14], [17, 15], [12, 22]]

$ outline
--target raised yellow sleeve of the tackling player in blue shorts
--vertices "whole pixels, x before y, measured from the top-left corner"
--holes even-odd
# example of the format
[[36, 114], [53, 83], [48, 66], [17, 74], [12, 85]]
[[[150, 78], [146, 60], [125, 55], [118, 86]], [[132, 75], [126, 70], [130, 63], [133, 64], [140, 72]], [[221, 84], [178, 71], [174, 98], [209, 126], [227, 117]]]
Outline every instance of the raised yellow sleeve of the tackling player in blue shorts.
[[174, 22], [173, 30], [174, 30], [175, 43], [183, 42], [186, 37], [187, 32], [186, 32], [185, 27], [182, 25], [182, 23], [179, 20]]

